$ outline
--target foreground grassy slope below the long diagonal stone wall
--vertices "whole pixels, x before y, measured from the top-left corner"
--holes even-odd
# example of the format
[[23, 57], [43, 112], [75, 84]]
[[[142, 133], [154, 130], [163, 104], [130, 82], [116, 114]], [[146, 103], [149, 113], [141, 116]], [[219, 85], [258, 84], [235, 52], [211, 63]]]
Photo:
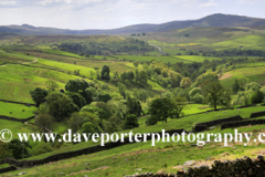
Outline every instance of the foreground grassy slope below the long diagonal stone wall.
[[[240, 133], [262, 129], [264, 125], [242, 127]], [[220, 132], [219, 129], [216, 129]], [[215, 133], [216, 131], [208, 132]], [[233, 133], [233, 129], [224, 129], [221, 133]], [[235, 159], [243, 156], [255, 157], [263, 150], [264, 144], [241, 144], [231, 143], [231, 147], [223, 147], [223, 143], [210, 143], [202, 148], [192, 147], [190, 143], [156, 143], [151, 146], [150, 140], [146, 143], [129, 144], [109, 150], [103, 150], [91, 155], [83, 155], [71, 159], [50, 163], [46, 165], [19, 169], [4, 175], [15, 175], [25, 171], [24, 176], [57, 176], [59, 174], [75, 177], [87, 176], [125, 176], [146, 171], [174, 173], [181, 168], [187, 160], [204, 160], [211, 157], [214, 160]], [[236, 147], [236, 148], [233, 148]], [[223, 154], [229, 154], [224, 156]], [[88, 166], [85, 164], [89, 164]], [[86, 169], [86, 168], [89, 169]]]

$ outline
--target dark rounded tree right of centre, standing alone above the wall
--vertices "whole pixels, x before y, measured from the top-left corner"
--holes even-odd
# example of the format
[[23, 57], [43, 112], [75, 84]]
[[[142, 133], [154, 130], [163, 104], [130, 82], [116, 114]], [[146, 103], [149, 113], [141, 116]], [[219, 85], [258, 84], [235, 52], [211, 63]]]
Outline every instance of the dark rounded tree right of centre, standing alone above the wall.
[[171, 115], [172, 102], [168, 97], [156, 98], [151, 102], [149, 113], [153, 122], [163, 121], [167, 123], [167, 118]]

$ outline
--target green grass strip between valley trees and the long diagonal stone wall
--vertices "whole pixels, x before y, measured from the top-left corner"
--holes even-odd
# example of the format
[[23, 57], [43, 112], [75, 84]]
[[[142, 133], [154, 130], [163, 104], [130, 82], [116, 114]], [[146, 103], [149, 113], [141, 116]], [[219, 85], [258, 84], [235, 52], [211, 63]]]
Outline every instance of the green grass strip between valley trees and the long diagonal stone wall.
[[[190, 111], [190, 108], [193, 107], [193, 111]], [[194, 110], [197, 108], [201, 108], [201, 105], [193, 105], [193, 106], [189, 106], [187, 107], [187, 110], [184, 111], [187, 116], [182, 117], [182, 118], [168, 118], [168, 123], [162, 123], [159, 122], [157, 125], [153, 126], [147, 126], [145, 123], [146, 118], [142, 117], [140, 118], [138, 122], [140, 123], [140, 126], [138, 128], [132, 128], [132, 129], [125, 129], [125, 131], [120, 131], [117, 132], [119, 133], [129, 133], [130, 131], [132, 131], [132, 133], [151, 133], [151, 132], [161, 132], [161, 129], [166, 129], [166, 131], [170, 131], [170, 129], [180, 129], [180, 128], [184, 128], [186, 131], [192, 131], [192, 127], [195, 124], [199, 123], [203, 123], [203, 122], [209, 122], [209, 121], [213, 121], [213, 119], [219, 119], [219, 118], [226, 118], [230, 116], [235, 116], [235, 115], [241, 115], [243, 118], [248, 118], [251, 113], [253, 112], [259, 112], [259, 111], [264, 111], [265, 106], [261, 106], [261, 107], [247, 107], [247, 108], [241, 108], [240, 111], [236, 110], [229, 110], [226, 111], [227, 113], [223, 114], [223, 111], [219, 111], [219, 112], [211, 112], [209, 114], [198, 114], [198, 115], [189, 115], [189, 114], [194, 114], [198, 113]], [[205, 107], [205, 110], [201, 110], [202, 111], [206, 111], [208, 107]], [[189, 112], [190, 111], [190, 112]], [[88, 140], [87, 143], [80, 143], [76, 145], [71, 145], [71, 144], [65, 144], [65, 146], [63, 146], [61, 149], [51, 152], [51, 153], [46, 153], [46, 154], [42, 154], [39, 156], [33, 156], [30, 157], [28, 159], [41, 159], [41, 158], [45, 158], [47, 156], [54, 155], [54, 154], [59, 154], [59, 153], [64, 153], [64, 152], [70, 152], [70, 150], [77, 150], [77, 149], [82, 149], [82, 148], [86, 148], [89, 146], [95, 146], [98, 145], [99, 143], [94, 143]]]

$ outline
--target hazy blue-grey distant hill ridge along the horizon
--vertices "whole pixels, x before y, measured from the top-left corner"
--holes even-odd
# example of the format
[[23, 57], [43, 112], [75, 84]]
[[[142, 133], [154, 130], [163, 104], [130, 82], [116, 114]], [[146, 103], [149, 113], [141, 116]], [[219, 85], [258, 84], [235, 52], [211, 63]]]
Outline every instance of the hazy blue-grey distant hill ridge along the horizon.
[[265, 19], [248, 18], [215, 13], [199, 20], [171, 21], [161, 24], [135, 24], [112, 30], [67, 30], [55, 28], [22, 25], [0, 27], [0, 32], [12, 32], [17, 34], [125, 34], [142, 32], [162, 32], [199, 27], [259, 27], [265, 25]]

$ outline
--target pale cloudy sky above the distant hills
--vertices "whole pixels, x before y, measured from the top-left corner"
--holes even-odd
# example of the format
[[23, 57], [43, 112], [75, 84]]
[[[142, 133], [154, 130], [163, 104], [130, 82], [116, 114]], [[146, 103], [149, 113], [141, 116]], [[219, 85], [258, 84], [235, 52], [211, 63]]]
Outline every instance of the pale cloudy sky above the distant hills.
[[265, 0], [0, 0], [0, 25], [116, 29], [213, 13], [265, 19]]

